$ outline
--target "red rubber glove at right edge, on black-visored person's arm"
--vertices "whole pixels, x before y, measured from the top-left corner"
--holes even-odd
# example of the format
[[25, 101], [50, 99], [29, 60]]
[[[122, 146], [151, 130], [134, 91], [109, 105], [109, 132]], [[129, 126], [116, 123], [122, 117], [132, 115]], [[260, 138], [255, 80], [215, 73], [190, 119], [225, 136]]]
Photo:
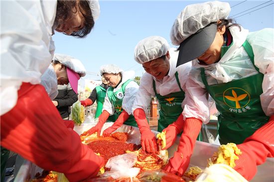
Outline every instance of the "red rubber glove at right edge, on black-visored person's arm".
[[257, 173], [257, 166], [274, 157], [274, 115], [244, 143], [237, 145], [242, 154], [235, 160], [234, 169], [248, 181]]

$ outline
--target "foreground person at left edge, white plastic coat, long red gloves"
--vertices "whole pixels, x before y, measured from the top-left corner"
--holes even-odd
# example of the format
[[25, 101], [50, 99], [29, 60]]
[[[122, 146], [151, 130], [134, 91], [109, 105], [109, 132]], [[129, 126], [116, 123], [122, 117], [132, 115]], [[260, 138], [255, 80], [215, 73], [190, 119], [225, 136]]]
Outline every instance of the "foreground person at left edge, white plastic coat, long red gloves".
[[1, 156], [11, 150], [70, 182], [96, 176], [104, 159], [66, 127], [40, 82], [53, 58], [54, 30], [87, 36], [98, 1], [2, 1], [1, 13]]

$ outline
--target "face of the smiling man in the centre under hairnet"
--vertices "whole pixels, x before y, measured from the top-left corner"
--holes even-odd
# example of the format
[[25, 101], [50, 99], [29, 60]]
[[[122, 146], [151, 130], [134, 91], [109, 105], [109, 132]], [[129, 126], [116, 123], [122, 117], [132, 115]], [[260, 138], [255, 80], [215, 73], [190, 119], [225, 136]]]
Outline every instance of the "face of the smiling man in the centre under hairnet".
[[169, 72], [169, 58], [169, 52], [167, 52], [165, 56], [143, 63], [142, 67], [146, 73], [157, 80], [163, 80]]

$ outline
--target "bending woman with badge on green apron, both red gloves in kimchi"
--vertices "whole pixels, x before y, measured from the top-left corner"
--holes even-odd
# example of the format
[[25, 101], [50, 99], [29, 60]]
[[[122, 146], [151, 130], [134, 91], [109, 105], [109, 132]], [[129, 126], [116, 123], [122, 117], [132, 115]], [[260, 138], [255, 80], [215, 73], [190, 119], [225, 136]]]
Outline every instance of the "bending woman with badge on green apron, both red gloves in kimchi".
[[110, 87], [107, 90], [102, 113], [98, 117], [98, 123], [82, 135], [90, 135], [97, 132], [99, 137], [102, 127], [110, 115], [114, 115], [115, 122], [103, 132], [103, 136], [109, 136], [122, 124], [137, 126], [132, 115], [133, 102], [139, 88], [138, 84], [132, 80], [135, 75], [134, 71], [124, 72], [118, 66], [110, 64], [103, 65], [100, 68], [100, 73]]

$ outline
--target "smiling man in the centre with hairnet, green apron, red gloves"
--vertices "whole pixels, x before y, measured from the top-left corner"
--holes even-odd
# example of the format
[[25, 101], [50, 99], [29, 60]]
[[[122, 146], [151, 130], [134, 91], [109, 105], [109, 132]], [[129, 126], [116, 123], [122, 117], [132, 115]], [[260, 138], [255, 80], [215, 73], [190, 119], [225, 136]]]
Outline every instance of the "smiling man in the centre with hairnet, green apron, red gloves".
[[[135, 60], [142, 64], [146, 73], [141, 77], [133, 111], [141, 133], [142, 149], [147, 152], [157, 150], [155, 136], [149, 129], [144, 112], [151, 96], [156, 96], [160, 104], [158, 131], [165, 132], [168, 144], [163, 149], [169, 148], [184, 128], [185, 122], [182, 115], [184, 90], [191, 65], [185, 64], [176, 68], [177, 57], [175, 50], [170, 49], [167, 41], [160, 36], [147, 37], [135, 48]], [[202, 122], [198, 121], [198, 125], [201, 124]], [[199, 131], [200, 129], [198, 134]]]

